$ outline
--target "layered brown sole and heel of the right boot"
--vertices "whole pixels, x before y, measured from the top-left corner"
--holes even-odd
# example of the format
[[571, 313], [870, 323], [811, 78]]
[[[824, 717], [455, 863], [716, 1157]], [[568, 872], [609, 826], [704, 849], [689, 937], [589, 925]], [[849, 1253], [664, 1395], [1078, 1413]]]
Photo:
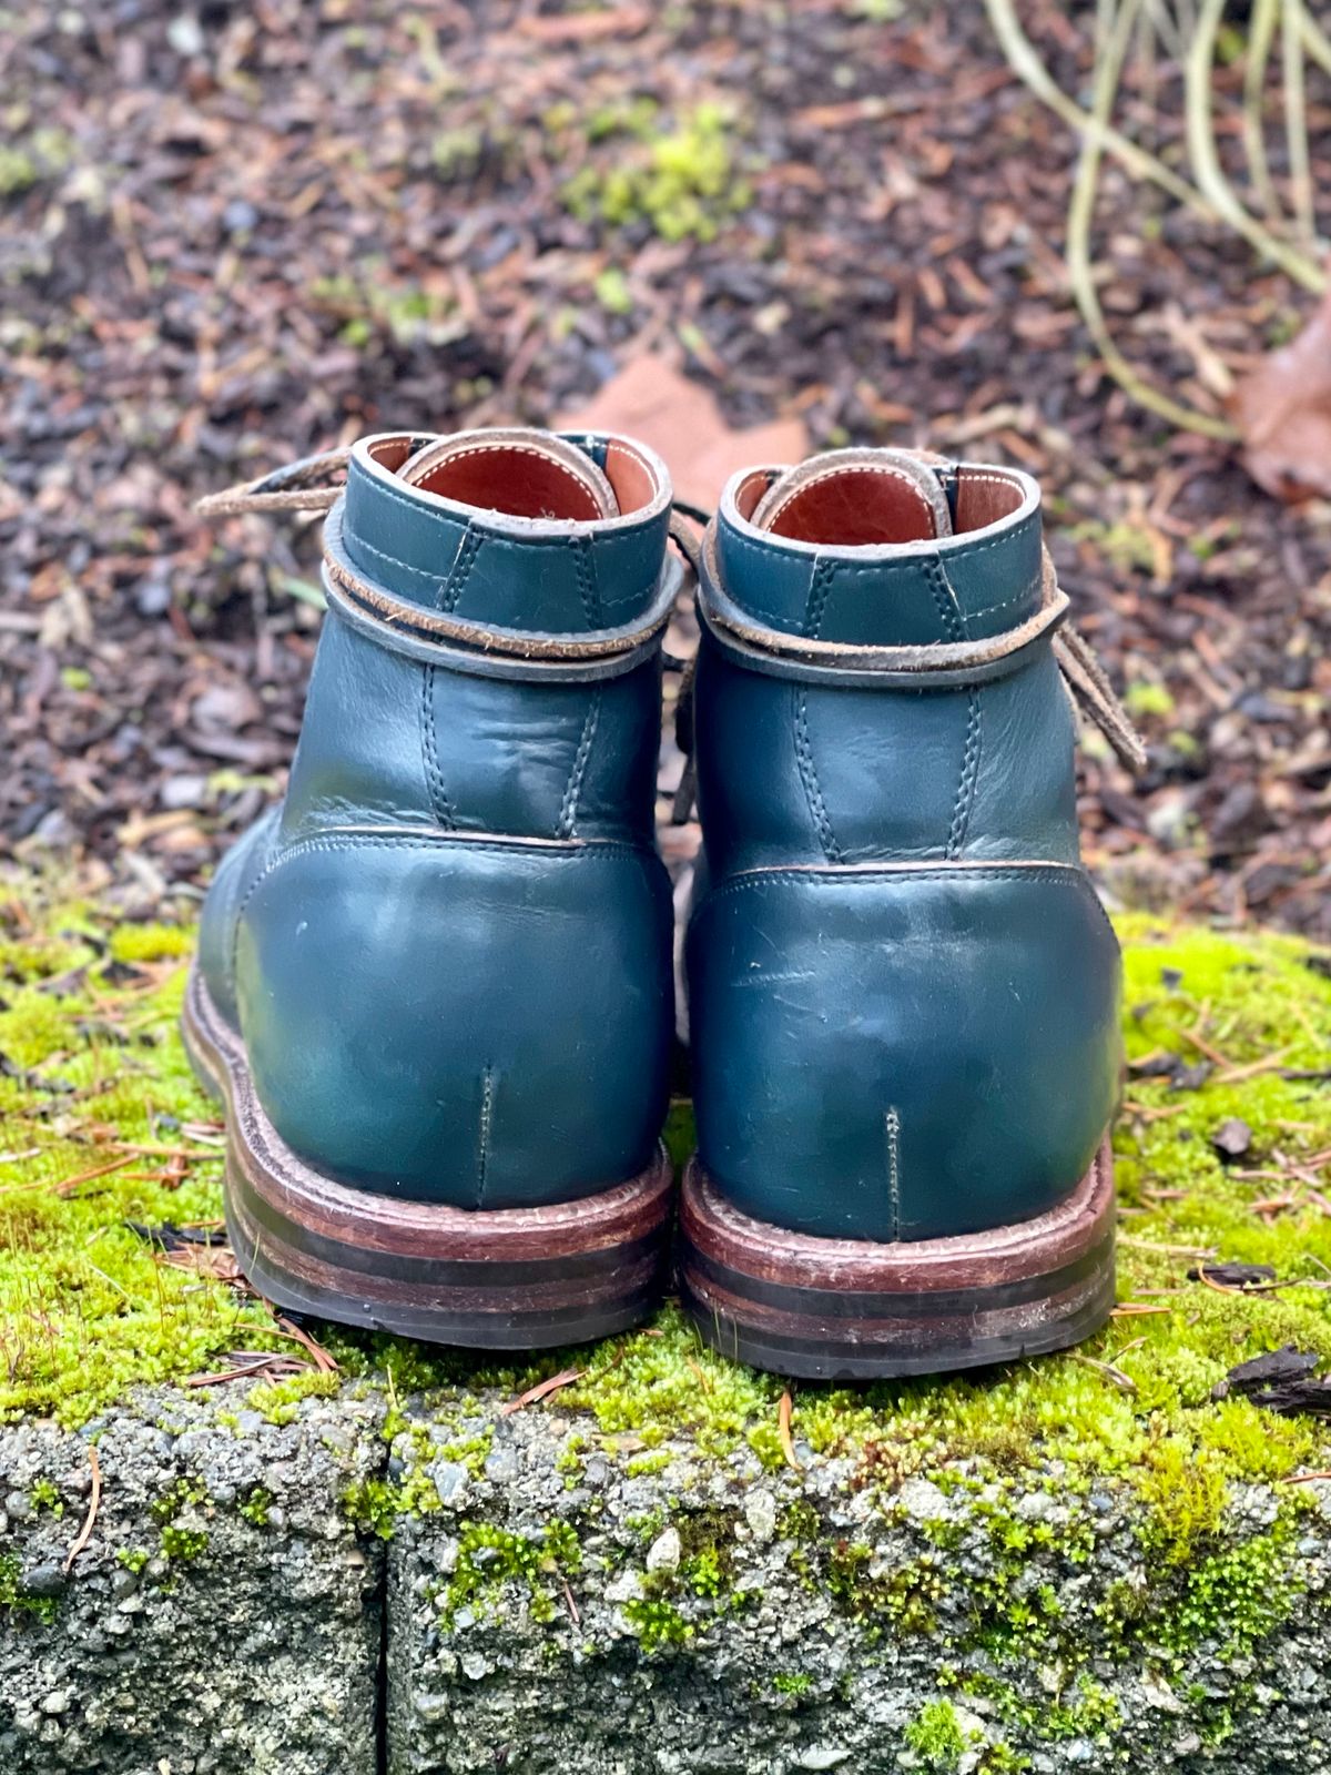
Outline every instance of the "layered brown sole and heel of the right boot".
[[800, 1379], [939, 1374], [1065, 1349], [1114, 1303], [1106, 1136], [1047, 1214], [946, 1239], [816, 1239], [731, 1207], [694, 1159], [680, 1290], [713, 1349]]

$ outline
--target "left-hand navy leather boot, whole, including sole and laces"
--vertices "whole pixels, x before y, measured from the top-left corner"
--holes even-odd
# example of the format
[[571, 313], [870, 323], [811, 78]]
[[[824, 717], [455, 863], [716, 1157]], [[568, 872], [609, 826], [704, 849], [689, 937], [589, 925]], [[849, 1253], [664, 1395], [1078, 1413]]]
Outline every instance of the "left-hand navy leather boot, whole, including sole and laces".
[[657, 1299], [673, 1209], [664, 465], [374, 437], [204, 502], [284, 508], [330, 508], [328, 616], [185, 1012], [236, 1257], [286, 1306], [442, 1342], [616, 1331]]

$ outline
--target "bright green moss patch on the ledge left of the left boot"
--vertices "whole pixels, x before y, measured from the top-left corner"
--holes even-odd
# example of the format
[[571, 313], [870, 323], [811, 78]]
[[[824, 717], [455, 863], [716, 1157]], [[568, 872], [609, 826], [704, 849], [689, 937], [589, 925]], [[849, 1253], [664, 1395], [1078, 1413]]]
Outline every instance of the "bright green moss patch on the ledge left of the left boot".
[[279, 1345], [261, 1303], [126, 1225], [220, 1212], [220, 1143], [193, 1132], [217, 1115], [176, 1033], [192, 941], [0, 879], [0, 1420], [78, 1425], [133, 1383]]

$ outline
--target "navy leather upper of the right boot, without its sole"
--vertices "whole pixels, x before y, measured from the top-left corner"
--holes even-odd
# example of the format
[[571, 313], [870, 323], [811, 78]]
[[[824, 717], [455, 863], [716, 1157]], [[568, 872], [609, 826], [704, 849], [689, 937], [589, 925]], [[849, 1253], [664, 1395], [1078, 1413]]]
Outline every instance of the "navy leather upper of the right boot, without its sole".
[[[985, 465], [822, 462], [793, 493], [736, 476], [705, 548], [699, 1154], [799, 1232], [978, 1232], [1077, 1184], [1118, 1090], [1040, 495]], [[930, 671], [935, 650], [962, 664]]]

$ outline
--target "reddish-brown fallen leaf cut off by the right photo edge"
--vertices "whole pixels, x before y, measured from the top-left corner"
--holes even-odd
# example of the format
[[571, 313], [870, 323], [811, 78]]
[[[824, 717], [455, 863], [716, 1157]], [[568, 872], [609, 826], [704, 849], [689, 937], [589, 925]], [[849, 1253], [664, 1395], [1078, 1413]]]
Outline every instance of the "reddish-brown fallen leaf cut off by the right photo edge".
[[1331, 291], [1297, 339], [1239, 382], [1230, 412], [1258, 486], [1290, 504], [1331, 493]]

